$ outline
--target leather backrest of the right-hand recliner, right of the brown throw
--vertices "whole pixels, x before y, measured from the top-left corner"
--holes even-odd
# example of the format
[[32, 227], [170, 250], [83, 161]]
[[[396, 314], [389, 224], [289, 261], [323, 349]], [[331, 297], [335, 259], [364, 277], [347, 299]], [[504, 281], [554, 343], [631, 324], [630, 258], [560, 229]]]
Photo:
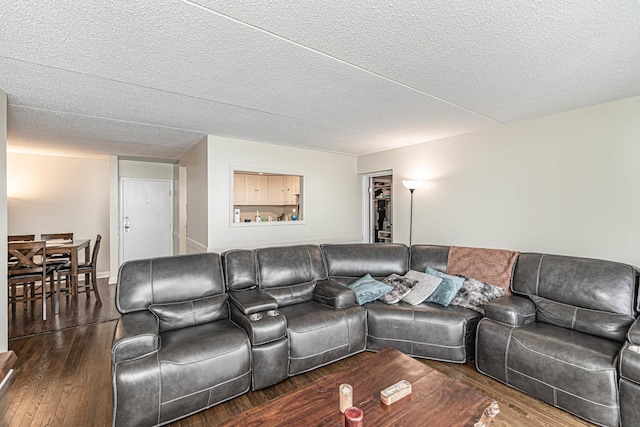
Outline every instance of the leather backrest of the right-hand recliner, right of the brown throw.
[[512, 289], [530, 296], [538, 321], [621, 341], [637, 314], [636, 277], [617, 262], [523, 253]]

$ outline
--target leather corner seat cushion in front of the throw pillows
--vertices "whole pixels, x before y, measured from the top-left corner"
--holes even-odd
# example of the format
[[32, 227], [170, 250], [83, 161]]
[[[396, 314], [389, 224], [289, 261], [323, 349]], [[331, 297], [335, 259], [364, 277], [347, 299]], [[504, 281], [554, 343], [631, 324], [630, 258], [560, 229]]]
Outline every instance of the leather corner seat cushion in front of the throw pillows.
[[388, 305], [367, 309], [367, 349], [394, 347], [414, 357], [463, 363], [472, 358], [475, 328], [481, 315], [462, 307], [435, 303]]

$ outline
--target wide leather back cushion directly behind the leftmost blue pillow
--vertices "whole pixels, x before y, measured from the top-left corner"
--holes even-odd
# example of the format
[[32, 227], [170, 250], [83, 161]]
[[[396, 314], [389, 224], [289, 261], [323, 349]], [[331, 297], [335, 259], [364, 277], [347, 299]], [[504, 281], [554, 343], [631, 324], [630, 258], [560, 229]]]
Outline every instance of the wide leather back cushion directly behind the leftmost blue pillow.
[[402, 244], [327, 244], [322, 245], [322, 253], [330, 277], [387, 277], [409, 269], [409, 248]]

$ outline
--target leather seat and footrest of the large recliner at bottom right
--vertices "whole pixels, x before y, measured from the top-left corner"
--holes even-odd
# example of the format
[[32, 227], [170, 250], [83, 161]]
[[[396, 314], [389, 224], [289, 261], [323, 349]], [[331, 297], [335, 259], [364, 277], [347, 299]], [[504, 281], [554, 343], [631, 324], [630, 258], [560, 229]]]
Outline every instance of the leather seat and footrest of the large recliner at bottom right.
[[620, 343], [545, 323], [514, 328], [508, 384], [603, 425], [618, 425]]

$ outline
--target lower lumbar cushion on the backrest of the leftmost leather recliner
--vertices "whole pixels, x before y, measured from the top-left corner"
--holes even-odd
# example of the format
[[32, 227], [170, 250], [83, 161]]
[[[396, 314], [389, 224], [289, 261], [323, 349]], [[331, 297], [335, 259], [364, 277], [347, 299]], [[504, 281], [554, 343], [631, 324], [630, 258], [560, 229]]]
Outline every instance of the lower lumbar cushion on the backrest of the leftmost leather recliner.
[[228, 317], [227, 294], [214, 295], [184, 302], [151, 304], [160, 332], [201, 325]]

